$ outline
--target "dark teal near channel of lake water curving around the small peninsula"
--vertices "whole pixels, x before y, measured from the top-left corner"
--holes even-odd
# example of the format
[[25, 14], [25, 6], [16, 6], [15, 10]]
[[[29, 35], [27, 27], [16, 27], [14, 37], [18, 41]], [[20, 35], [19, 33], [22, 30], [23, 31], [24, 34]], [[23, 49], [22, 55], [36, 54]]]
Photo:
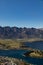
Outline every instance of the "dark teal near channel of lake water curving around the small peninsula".
[[28, 63], [32, 63], [36, 65], [43, 65], [43, 59], [24, 57], [23, 54], [25, 52], [27, 52], [27, 50], [0, 50], [0, 56], [18, 58]]

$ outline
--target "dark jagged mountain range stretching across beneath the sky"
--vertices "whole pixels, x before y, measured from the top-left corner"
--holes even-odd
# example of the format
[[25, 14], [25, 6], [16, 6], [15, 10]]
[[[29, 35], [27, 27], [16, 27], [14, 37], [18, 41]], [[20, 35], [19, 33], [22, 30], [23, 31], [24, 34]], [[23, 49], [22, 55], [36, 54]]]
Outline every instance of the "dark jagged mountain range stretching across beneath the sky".
[[24, 39], [24, 38], [43, 38], [43, 28], [18, 28], [0, 26], [0, 38]]

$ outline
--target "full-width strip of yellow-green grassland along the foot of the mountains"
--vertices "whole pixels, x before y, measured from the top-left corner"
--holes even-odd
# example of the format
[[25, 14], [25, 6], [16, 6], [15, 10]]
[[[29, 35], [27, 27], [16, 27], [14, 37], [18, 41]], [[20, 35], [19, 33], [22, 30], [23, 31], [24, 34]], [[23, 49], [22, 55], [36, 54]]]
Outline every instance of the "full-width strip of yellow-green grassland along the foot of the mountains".
[[18, 49], [23, 42], [34, 42], [43, 41], [43, 39], [32, 38], [32, 39], [0, 39], [0, 49]]

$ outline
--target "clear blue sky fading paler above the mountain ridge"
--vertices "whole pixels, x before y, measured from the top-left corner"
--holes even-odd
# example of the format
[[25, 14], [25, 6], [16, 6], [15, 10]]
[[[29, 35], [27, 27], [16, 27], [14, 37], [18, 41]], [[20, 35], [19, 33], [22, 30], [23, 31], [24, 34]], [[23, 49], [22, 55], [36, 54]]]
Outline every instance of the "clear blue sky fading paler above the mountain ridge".
[[0, 26], [43, 28], [43, 0], [0, 0]]

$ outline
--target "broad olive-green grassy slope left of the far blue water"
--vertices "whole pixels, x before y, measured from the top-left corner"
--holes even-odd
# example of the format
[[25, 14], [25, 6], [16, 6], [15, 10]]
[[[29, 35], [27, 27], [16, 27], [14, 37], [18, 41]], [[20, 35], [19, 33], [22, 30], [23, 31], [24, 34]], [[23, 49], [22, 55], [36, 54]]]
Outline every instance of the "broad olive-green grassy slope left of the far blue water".
[[12, 39], [0, 39], [0, 48], [14, 49], [19, 48], [20, 42]]

